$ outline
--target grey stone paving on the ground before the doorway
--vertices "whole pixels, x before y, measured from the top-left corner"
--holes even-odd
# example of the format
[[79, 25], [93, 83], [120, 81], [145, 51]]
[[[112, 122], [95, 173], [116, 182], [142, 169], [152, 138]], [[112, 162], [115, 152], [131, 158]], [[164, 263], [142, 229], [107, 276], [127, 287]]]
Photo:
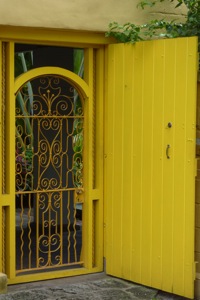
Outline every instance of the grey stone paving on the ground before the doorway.
[[[186, 300], [102, 274], [8, 287], [0, 300]], [[195, 299], [200, 300], [200, 299]]]

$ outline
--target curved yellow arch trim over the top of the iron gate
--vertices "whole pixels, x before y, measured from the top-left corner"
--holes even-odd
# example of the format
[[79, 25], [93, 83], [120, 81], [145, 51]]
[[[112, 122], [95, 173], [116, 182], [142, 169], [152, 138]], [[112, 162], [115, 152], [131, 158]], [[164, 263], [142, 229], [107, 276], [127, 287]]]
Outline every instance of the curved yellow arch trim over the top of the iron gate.
[[42, 75], [58, 75], [66, 79], [69, 79], [70, 83], [78, 89], [78, 91], [81, 93], [81, 95], [84, 98], [89, 97], [89, 87], [86, 84], [86, 82], [83, 79], [81, 79], [81, 77], [79, 77], [78, 75], [76, 75], [75, 73], [69, 70], [58, 68], [58, 67], [36, 68], [20, 75], [15, 80], [15, 94], [20, 89], [20, 87], [24, 85], [26, 82], [28, 82], [33, 78], [40, 77]]

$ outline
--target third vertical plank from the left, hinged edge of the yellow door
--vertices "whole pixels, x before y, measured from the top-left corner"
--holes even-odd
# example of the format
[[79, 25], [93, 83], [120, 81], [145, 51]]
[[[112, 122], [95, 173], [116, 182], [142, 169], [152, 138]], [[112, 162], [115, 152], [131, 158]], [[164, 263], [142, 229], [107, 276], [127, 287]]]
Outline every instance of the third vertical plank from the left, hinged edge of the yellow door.
[[[122, 199], [122, 276], [130, 278], [132, 256], [132, 205], [133, 205], [133, 89], [134, 89], [134, 51], [132, 45], [124, 45], [124, 101], [123, 105], [123, 192]], [[131, 66], [131, 67], [130, 67]]]

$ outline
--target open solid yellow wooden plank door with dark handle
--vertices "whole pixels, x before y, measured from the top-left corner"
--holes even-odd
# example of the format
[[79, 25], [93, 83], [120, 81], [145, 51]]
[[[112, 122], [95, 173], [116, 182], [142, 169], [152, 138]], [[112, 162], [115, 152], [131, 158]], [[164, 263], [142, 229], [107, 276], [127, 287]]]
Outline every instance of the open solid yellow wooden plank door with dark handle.
[[107, 48], [106, 272], [193, 298], [197, 39]]

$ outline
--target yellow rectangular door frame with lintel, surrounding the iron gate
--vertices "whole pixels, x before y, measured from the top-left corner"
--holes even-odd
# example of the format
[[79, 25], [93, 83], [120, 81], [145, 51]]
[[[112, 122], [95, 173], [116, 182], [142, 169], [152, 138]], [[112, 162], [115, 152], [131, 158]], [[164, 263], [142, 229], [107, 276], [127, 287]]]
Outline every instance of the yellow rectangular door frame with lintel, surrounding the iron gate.
[[[1, 26], [0, 34], [0, 272], [6, 273], [8, 283], [31, 282], [103, 271], [103, 81], [104, 81], [104, 45], [109, 39], [102, 33], [73, 32], [65, 30], [33, 29]], [[85, 174], [88, 186], [88, 201], [84, 204], [85, 233], [83, 240], [88, 241], [84, 268], [62, 270], [16, 276], [15, 249], [15, 88], [19, 87], [20, 77], [14, 78], [14, 44], [42, 44], [84, 48], [84, 81], [88, 89], [89, 101], [86, 101], [88, 122], [85, 127], [88, 172]], [[36, 72], [35, 70], [31, 71]], [[29, 73], [30, 74], [30, 73]], [[33, 74], [32, 74], [33, 75]], [[72, 81], [79, 80], [71, 73]], [[76, 85], [77, 86], [77, 85]], [[6, 99], [6, 103], [5, 103]], [[5, 114], [2, 112], [6, 112]], [[6, 149], [5, 149], [6, 148]], [[84, 251], [83, 251], [84, 252]]]

